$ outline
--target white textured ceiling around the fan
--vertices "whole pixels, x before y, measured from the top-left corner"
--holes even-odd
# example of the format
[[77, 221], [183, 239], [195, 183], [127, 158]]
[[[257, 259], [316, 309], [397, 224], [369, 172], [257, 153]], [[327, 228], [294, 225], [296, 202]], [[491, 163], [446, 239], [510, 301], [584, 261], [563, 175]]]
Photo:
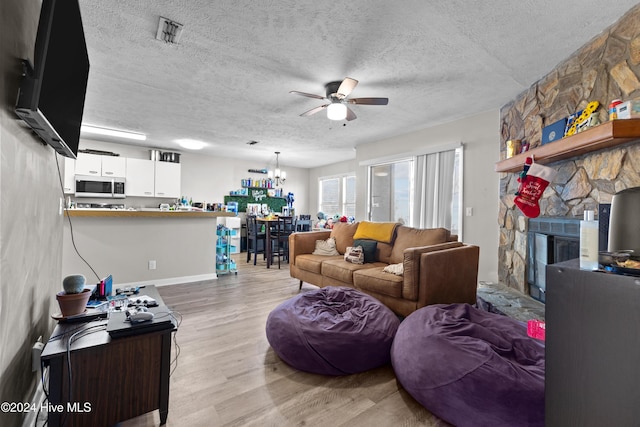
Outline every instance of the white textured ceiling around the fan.
[[[144, 145], [315, 167], [353, 147], [498, 109], [636, 5], [618, 0], [80, 0], [91, 70], [84, 123], [143, 132]], [[184, 25], [155, 38], [159, 17]], [[334, 122], [324, 85], [352, 77]], [[496, 133], [498, 129], [496, 129]], [[255, 140], [258, 144], [248, 145]], [[120, 141], [122, 142], [122, 141]]]

